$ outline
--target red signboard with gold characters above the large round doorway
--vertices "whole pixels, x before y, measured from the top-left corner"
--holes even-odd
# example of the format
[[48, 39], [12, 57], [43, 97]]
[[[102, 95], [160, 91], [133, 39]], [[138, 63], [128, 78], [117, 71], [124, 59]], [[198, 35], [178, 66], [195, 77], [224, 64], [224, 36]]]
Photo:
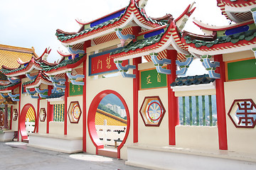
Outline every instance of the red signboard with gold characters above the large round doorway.
[[[119, 48], [114, 50], [118, 49]], [[100, 52], [89, 56], [89, 76], [118, 72], [116, 64], [114, 64], [114, 59], [110, 57], [110, 52], [113, 52], [114, 50]], [[128, 60], [122, 62], [123, 66], [127, 64], [129, 64]]]

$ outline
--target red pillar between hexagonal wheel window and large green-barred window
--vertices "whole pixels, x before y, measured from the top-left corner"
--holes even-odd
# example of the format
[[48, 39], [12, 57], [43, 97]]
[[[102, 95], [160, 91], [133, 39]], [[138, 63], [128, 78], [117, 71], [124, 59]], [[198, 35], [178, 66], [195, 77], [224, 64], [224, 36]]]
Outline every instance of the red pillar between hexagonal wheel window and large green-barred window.
[[170, 84], [176, 79], [176, 50], [167, 50], [167, 57], [171, 59], [171, 64], [167, 65], [167, 69], [171, 69], [171, 74], [167, 75], [168, 88], [168, 115], [169, 115], [169, 145], [176, 145], [175, 127], [178, 125], [178, 98], [171, 89]]

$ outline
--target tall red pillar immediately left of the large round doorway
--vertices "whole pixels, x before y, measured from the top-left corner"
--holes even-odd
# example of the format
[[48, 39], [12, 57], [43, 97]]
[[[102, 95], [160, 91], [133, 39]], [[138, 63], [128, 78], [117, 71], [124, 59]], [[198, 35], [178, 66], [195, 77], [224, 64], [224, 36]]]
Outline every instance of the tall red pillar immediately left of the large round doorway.
[[[88, 40], [84, 43], [83, 50], [85, 51], [87, 47], [91, 46], [91, 40]], [[82, 151], [86, 152], [86, 61], [87, 61], [87, 55], [85, 55], [85, 61], [83, 62], [83, 74], [85, 75], [84, 86], [82, 87]]]

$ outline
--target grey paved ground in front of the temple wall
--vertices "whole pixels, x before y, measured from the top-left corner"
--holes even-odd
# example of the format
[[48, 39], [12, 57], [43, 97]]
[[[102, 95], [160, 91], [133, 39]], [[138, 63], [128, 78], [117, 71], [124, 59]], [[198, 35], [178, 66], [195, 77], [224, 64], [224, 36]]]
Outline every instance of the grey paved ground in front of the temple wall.
[[0, 169], [144, 170], [134, 166], [127, 166], [124, 164], [124, 160], [85, 153], [64, 154], [27, 147], [22, 142], [0, 142]]

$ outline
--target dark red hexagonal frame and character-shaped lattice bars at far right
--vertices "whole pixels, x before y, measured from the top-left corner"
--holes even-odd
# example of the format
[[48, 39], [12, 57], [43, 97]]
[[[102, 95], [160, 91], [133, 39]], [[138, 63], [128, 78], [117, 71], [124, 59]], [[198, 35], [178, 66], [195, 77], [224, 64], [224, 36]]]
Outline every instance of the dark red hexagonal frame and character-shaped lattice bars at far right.
[[[245, 118], [238, 118], [235, 114], [237, 113], [237, 110], [240, 108], [240, 102], [245, 102], [245, 108], [242, 108], [241, 110], [245, 110], [245, 113], [240, 113], [240, 115], [245, 115]], [[232, 123], [235, 125], [235, 128], [255, 128], [256, 125], [256, 120], [253, 120], [253, 118], [248, 118], [248, 115], [256, 115], [256, 113], [247, 113], [247, 110], [252, 110], [252, 109], [248, 109], [247, 108], [247, 102], [251, 103], [251, 108], [256, 108], [256, 104], [254, 103], [254, 101], [252, 101], [251, 98], [248, 99], [235, 99], [232, 103], [232, 105], [230, 106], [230, 110], [228, 111], [228, 117], [230, 118], [230, 120], [232, 121]], [[247, 122], [247, 118], [249, 120], [252, 120], [252, 125], [246, 125]], [[245, 125], [239, 125], [240, 123], [242, 123], [242, 120], [245, 120], [246, 123]]]

